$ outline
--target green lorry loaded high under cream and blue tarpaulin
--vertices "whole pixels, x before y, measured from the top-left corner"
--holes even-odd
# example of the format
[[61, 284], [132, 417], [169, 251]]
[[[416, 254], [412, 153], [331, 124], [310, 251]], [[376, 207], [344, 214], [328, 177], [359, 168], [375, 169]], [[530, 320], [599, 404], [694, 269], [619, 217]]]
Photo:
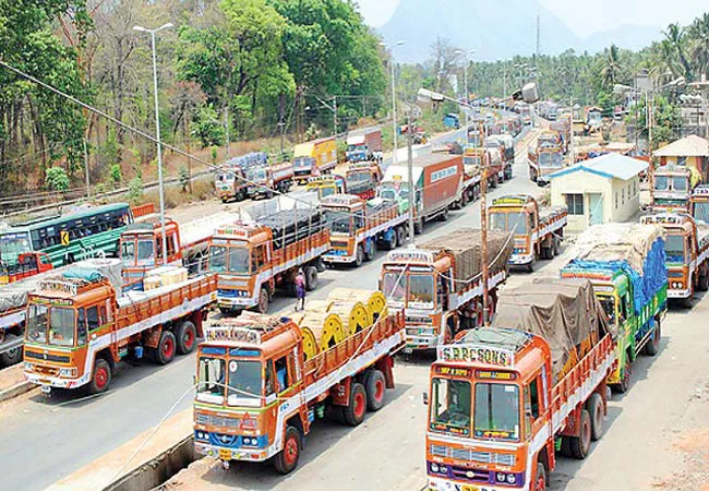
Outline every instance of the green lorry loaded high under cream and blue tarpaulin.
[[617, 331], [617, 363], [608, 383], [617, 392], [630, 386], [633, 361], [658, 352], [666, 314], [668, 270], [663, 230], [658, 225], [603, 224], [581, 233], [569, 251], [563, 278], [589, 279]]

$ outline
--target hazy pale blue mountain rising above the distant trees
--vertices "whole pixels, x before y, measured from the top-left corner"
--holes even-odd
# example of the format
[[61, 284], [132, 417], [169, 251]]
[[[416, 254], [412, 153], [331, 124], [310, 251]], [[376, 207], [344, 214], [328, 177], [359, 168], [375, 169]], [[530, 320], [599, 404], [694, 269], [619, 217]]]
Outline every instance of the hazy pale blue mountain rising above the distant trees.
[[425, 61], [437, 36], [474, 49], [476, 60], [496, 60], [534, 52], [537, 15], [542, 52], [581, 48], [578, 36], [537, 0], [401, 0], [378, 32], [386, 43], [406, 40], [395, 52], [400, 62]]

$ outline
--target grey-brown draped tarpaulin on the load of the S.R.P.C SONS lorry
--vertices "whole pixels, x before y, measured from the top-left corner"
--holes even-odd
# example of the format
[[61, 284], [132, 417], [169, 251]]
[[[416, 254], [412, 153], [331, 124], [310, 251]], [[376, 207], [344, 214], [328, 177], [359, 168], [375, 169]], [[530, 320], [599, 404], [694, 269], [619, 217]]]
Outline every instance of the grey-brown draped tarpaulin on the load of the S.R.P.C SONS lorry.
[[552, 352], [554, 383], [609, 332], [603, 308], [586, 279], [544, 278], [506, 288], [492, 325], [543, 337]]

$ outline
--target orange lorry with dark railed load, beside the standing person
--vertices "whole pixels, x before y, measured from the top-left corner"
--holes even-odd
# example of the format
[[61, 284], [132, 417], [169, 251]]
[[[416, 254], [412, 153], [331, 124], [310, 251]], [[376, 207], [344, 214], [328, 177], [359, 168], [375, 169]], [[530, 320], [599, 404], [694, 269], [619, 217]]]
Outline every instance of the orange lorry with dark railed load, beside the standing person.
[[317, 286], [329, 230], [316, 206], [278, 196], [242, 211], [242, 220], [220, 227], [209, 240], [209, 267], [218, 275], [218, 307], [224, 312], [257, 309], [266, 313], [276, 287], [292, 291], [299, 268], [305, 288]]

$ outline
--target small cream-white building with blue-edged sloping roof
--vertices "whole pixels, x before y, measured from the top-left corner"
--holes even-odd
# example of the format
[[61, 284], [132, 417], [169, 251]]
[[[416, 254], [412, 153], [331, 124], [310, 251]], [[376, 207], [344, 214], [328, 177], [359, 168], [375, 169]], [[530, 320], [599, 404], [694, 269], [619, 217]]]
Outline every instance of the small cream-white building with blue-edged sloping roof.
[[626, 221], [640, 209], [639, 175], [644, 160], [618, 154], [580, 161], [549, 176], [552, 206], [568, 208], [569, 231]]

